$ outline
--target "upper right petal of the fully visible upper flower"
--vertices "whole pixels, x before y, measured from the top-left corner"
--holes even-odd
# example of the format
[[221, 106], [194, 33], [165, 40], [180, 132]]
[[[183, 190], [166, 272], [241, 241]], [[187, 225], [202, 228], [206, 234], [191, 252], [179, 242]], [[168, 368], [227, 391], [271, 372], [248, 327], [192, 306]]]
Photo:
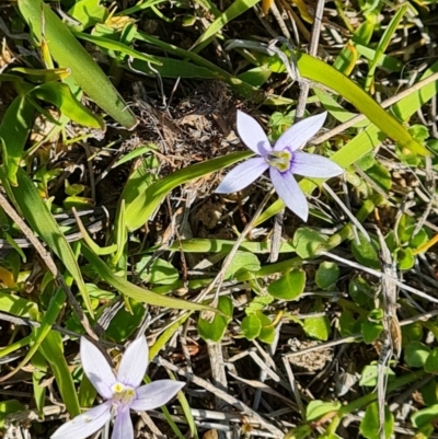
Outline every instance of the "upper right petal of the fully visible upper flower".
[[289, 147], [292, 151], [306, 145], [324, 125], [327, 113], [307, 117], [286, 130], [274, 145], [274, 151]]

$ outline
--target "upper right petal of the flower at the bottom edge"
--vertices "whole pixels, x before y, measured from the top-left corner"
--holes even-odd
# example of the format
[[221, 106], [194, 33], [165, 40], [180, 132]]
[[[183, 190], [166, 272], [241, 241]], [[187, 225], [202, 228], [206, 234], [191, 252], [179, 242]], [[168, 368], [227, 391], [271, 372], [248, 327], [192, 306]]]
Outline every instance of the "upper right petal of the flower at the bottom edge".
[[134, 340], [122, 357], [117, 371], [117, 381], [125, 385], [138, 388], [149, 365], [148, 354], [149, 348], [145, 336]]

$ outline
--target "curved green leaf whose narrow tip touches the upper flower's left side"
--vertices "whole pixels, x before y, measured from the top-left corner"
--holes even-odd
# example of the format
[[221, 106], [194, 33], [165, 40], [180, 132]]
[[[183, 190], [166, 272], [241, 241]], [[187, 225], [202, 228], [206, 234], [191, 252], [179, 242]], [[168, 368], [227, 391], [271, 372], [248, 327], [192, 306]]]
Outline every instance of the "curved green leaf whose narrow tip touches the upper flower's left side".
[[181, 184], [188, 183], [192, 180], [199, 178], [211, 172], [230, 166], [239, 160], [251, 157], [251, 152], [234, 152], [207, 162], [197, 163], [184, 167], [172, 174], [152, 183], [146, 190], [130, 203], [126, 203], [125, 221], [128, 230], [134, 231], [142, 227], [160, 206], [165, 196]]

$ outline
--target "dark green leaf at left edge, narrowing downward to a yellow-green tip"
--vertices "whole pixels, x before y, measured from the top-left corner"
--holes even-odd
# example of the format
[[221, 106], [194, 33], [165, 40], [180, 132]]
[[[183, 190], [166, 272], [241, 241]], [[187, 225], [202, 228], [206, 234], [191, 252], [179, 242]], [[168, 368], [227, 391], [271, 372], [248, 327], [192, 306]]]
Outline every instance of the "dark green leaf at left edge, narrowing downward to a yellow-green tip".
[[24, 96], [16, 96], [9, 105], [0, 124], [0, 139], [4, 145], [3, 163], [9, 181], [16, 186], [16, 170], [34, 123], [35, 109]]

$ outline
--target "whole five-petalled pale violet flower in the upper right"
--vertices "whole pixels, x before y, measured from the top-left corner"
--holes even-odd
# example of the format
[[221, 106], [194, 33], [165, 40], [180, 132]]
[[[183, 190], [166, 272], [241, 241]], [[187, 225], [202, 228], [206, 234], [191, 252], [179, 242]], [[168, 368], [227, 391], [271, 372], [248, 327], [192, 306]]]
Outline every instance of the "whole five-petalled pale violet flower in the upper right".
[[217, 194], [242, 190], [265, 171], [285, 205], [307, 221], [309, 207], [293, 174], [306, 177], [330, 178], [342, 174], [343, 169], [322, 155], [299, 151], [324, 125], [327, 113], [308, 117], [292, 125], [270, 145], [263, 128], [247, 114], [238, 111], [238, 132], [243, 143], [258, 157], [238, 164], [223, 178]]

